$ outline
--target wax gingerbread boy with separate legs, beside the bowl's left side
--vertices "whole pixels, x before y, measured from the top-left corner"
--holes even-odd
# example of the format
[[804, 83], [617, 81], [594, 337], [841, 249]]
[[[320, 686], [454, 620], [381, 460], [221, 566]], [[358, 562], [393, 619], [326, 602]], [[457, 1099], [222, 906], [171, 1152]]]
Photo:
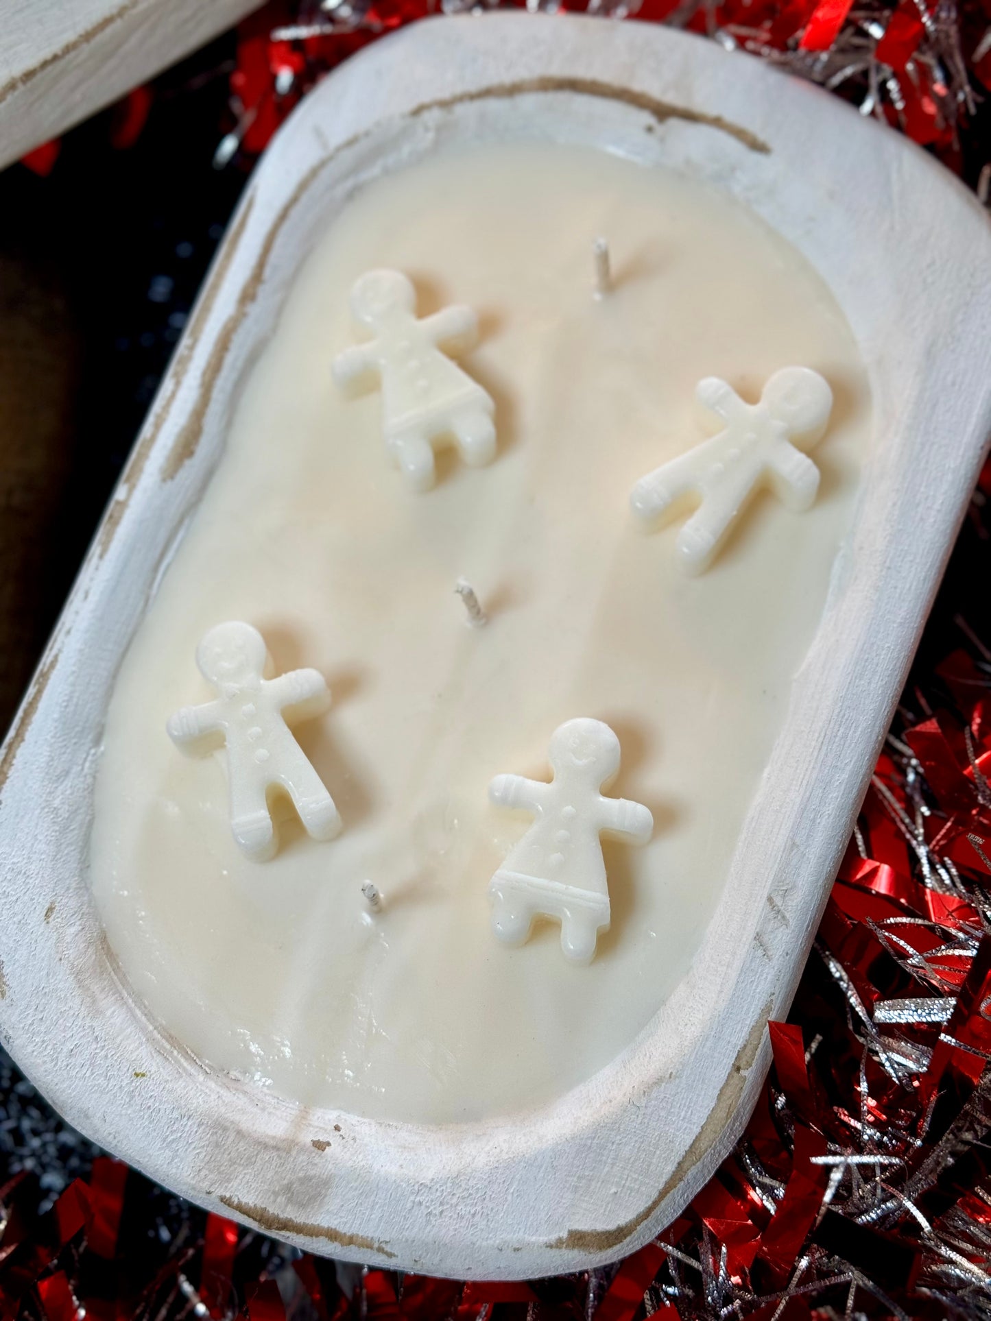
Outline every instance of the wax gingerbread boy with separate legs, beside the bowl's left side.
[[237, 621], [218, 624], [196, 653], [200, 672], [217, 697], [182, 707], [166, 727], [176, 746], [190, 756], [226, 746], [231, 830], [238, 847], [255, 861], [266, 861], [277, 848], [270, 790], [288, 794], [313, 839], [333, 839], [341, 830], [333, 798], [287, 724], [287, 719], [305, 720], [326, 711], [330, 692], [324, 676], [316, 670], [292, 670], [266, 679], [267, 662], [258, 629]]

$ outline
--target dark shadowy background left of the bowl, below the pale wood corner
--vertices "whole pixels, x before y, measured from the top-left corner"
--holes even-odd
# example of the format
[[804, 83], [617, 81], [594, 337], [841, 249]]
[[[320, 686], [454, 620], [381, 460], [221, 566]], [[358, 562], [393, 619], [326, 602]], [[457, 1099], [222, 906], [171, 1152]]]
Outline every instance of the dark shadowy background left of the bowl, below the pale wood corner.
[[0, 173], [0, 734], [247, 178], [211, 164], [233, 67], [231, 34], [156, 81], [132, 145], [108, 110], [48, 176]]

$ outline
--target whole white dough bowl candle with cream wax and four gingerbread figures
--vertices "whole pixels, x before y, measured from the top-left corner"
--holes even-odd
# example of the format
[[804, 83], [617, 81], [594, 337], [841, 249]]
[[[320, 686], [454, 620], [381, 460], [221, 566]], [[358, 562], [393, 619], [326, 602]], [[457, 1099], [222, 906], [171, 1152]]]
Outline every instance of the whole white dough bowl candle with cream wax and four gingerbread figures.
[[482, 1279], [708, 1177], [982, 453], [932, 350], [988, 312], [872, 238], [892, 172], [987, 255], [921, 153], [659, 29], [431, 21], [301, 106], [4, 764], [0, 1025], [77, 1124]]

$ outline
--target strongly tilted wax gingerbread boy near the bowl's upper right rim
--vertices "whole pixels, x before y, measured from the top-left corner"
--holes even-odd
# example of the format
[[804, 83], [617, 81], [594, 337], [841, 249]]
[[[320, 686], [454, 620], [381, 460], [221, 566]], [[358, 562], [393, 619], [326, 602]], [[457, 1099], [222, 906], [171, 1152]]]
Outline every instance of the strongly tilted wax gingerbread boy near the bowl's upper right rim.
[[695, 398], [725, 424], [723, 431], [642, 477], [630, 494], [633, 513], [650, 526], [666, 522], [683, 497], [699, 497], [699, 507], [678, 534], [678, 563], [686, 573], [700, 573], [712, 563], [761, 486], [795, 513], [813, 506], [819, 469], [803, 450], [822, 437], [832, 410], [832, 391], [809, 367], [776, 371], [756, 404], [744, 403], [719, 376], [700, 380]]

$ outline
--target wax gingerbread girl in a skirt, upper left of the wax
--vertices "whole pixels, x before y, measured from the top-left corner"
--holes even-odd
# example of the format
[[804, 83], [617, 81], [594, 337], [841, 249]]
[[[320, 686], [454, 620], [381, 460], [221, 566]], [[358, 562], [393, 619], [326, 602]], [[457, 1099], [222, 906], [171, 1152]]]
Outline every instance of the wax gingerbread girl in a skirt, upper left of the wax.
[[473, 468], [490, 462], [495, 456], [492, 398], [440, 347], [457, 353], [474, 345], [474, 312], [451, 306], [418, 318], [416, 292], [402, 271], [362, 275], [350, 306], [374, 339], [334, 358], [334, 380], [348, 386], [369, 375], [379, 378], [386, 450], [408, 485], [429, 490], [436, 476], [433, 446], [447, 439], [453, 439]]

